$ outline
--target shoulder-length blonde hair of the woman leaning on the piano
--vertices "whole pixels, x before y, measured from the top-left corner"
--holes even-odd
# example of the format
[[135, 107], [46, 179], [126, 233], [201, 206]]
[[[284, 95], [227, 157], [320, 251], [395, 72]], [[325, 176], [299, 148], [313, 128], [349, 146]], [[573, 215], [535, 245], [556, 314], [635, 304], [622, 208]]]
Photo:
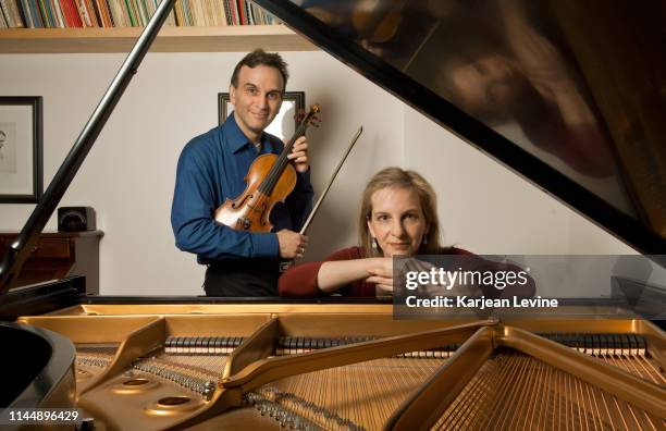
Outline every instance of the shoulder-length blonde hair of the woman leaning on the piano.
[[406, 171], [400, 168], [386, 168], [372, 176], [363, 190], [361, 210], [358, 220], [359, 246], [363, 257], [380, 256], [379, 248], [372, 248], [374, 238], [368, 229], [368, 221], [372, 216], [372, 195], [384, 188], [406, 188], [414, 190], [419, 196], [421, 211], [425, 218], [428, 231], [423, 235], [419, 247], [419, 255], [436, 255], [441, 253], [440, 246], [440, 221], [437, 218], [437, 198], [432, 186], [420, 174], [415, 171]]

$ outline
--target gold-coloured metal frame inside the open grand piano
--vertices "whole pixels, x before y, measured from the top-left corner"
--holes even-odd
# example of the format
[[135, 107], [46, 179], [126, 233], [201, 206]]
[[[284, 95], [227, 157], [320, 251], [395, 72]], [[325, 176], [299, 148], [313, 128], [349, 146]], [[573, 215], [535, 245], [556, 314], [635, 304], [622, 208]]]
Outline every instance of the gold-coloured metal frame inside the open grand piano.
[[[594, 310], [594, 312], [599, 311], [599, 309]], [[266, 395], [266, 391], [261, 392], [262, 387], [294, 375], [308, 375], [316, 381], [317, 372], [343, 370], [354, 364], [365, 364], [369, 367], [367, 370], [370, 370], [374, 367], [373, 364], [377, 364], [373, 361], [382, 360], [381, 358], [392, 358], [398, 354], [423, 352], [452, 344], [459, 345], [459, 347], [451, 358], [441, 359], [440, 365], [424, 372], [420, 381], [398, 397], [398, 402], [393, 401], [390, 415], [386, 415], [385, 408], [378, 408], [383, 404], [382, 392], [363, 394], [362, 387], [351, 391], [357, 392], [356, 395], [353, 394], [356, 396], [354, 403], [368, 404], [366, 407], [373, 410], [372, 420], [362, 419], [366, 414], [356, 415], [353, 420], [349, 420], [345, 418], [344, 409], [326, 411], [322, 406], [317, 407], [318, 411], [317, 408], [314, 412], [308, 411], [312, 408], [308, 407], [309, 402], [306, 397], [292, 394], [285, 396], [282, 392], [280, 392], [282, 395], [279, 396], [283, 398], [282, 404], [276, 408], [281, 411], [282, 409], [288, 410], [289, 415], [300, 415], [299, 417], [309, 415], [303, 419], [304, 422], [299, 423], [308, 423], [308, 427], [313, 426], [321, 429], [356, 429], [354, 427], [358, 426], [366, 429], [411, 430], [431, 427], [449, 428], [454, 423], [462, 429], [488, 428], [488, 422], [476, 421], [482, 420], [479, 418], [479, 411], [482, 411], [483, 408], [497, 409], [498, 402], [493, 401], [492, 396], [488, 398], [483, 390], [473, 389], [470, 385], [472, 381], [482, 379], [482, 374], [490, 375], [489, 372], [493, 372], [489, 369], [489, 367], [495, 367], [495, 365], [489, 366], [493, 358], [502, 357], [502, 355], [506, 357], [506, 353], [511, 352], [511, 355], [518, 355], [515, 358], [511, 357], [513, 359], [509, 358], [514, 361], [511, 367], [517, 367], [516, 364], [522, 364], [521, 361], [528, 358], [531, 362], [526, 362], [526, 370], [543, 375], [559, 373], [564, 377], [557, 379], [566, 377], [570, 379], [567, 382], [571, 382], [571, 387], [577, 387], [572, 394], [564, 394], [567, 392], [564, 385], [559, 387], [557, 382], [548, 383], [548, 379], [545, 379], [545, 383], [539, 384], [545, 384], [543, 387], [554, 384], [553, 387], [545, 391], [551, 394], [548, 395], [551, 398], [540, 398], [534, 393], [530, 396], [533, 398], [532, 404], [540, 399], [539, 403], [543, 404], [542, 408], [555, 408], [546, 407], [546, 405], [553, 404], [555, 399], [553, 394], [556, 393], [562, 393], [567, 398], [579, 397], [579, 399], [564, 401], [566, 408], [559, 414], [552, 412], [541, 419], [526, 419], [517, 411], [520, 409], [518, 406], [528, 406], [528, 410], [533, 411], [533, 415], [538, 408], [530, 404], [528, 399], [530, 397], [511, 395], [514, 399], [508, 399], [502, 405], [502, 409], [511, 410], [510, 416], [505, 415], [506, 418], [503, 419], [507, 429], [518, 423], [520, 428], [555, 429], [559, 428], [560, 421], [564, 422], [564, 427], [572, 428], [578, 428], [577, 424], [583, 426], [583, 421], [584, 423], [588, 421], [592, 424], [599, 423], [600, 429], [605, 429], [613, 423], [615, 427], [619, 423], [619, 428], [629, 429], [643, 428], [646, 424], [654, 429], [666, 428], [664, 420], [666, 418], [666, 380], [664, 379], [666, 336], [654, 324], [641, 319], [585, 317], [563, 319], [542, 316], [539, 319], [503, 321], [473, 318], [448, 321], [394, 320], [392, 306], [387, 304], [107, 304], [76, 305], [48, 315], [25, 316], [18, 321], [59, 332], [67, 336], [76, 346], [118, 345], [118, 349], [104, 367], [85, 367], [79, 364], [76, 371], [76, 404], [87, 415], [95, 418], [97, 429], [182, 429], [186, 427], [193, 427], [193, 429], [276, 427], [278, 429], [281, 421], [283, 426], [291, 423], [294, 427], [292, 419], [289, 422], [284, 417], [271, 419], [258, 415], [257, 409], [248, 404], [248, 394], [255, 394], [256, 397], [259, 391]], [[656, 383], [649, 381], [644, 377], [637, 375], [636, 372], [627, 371], [630, 368], [624, 367], [622, 369], [622, 367], [609, 365], [608, 360], [577, 352], [534, 333], [541, 335], [548, 333], [640, 335], [645, 340], [646, 359], [644, 358], [644, 361], [652, 367], [657, 379], [662, 381]], [[220, 335], [243, 337], [244, 342], [229, 357], [220, 359], [221, 362], [217, 365], [215, 370], [221, 372], [207, 396], [200, 392], [187, 390], [182, 383], [171, 381], [159, 372], [156, 375], [150, 372], [146, 373], [145, 370], [141, 371], [140, 367], [138, 370], [136, 367], [132, 368], [137, 358], [151, 357], [156, 355], [156, 352], [163, 352], [163, 346], [169, 337]], [[284, 336], [321, 340], [358, 335], [369, 335], [377, 340], [295, 355], [274, 356], [278, 342]], [[600, 352], [596, 354], [596, 356], [603, 356], [600, 355]], [[193, 355], [200, 356], [200, 353], [193, 353]], [[613, 354], [610, 353], [609, 356]], [[155, 360], [155, 364], [160, 364], [159, 358]], [[400, 372], [403, 372], [400, 367], [397, 368], [397, 374], [395, 370], [388, 371], [394, 372], [391, 375], [396, 381], [399, 380]], [[360, 375], [362, 377], [363, 372], [370, 372], [367, 370], [360, 371]], [[386, 370], [390, 370], [390, 367]], [[184, 372], [187, 373], [187, 371]], [[358, 374], [356, 378], [358, 379]], [[513, 383], [505, 381], [493, 391], [518, 386], [521, 383], [517, 382], [516, 378], [514, 375], [510, 380]], [[528, 384], [523, 389], [526, 393], [534, 392], [534, 387], [538, 387], [535, 386], [536, 378], [530, 379], [532, 380], [528, 379]], [[553, 379], [555, 378], [551, 378]], [[367, 386], [368, 384], [356, 381], [355, 385]], [[479, 386], [480, 383], [474, 384]], [[384, 392], [392, 391], [392, 384], [384, 384]], [[307, 391], [317, 391], [317, 389]], [[460, 403], [464, 397], [469, 398], [473, 395], [474, 391], [477, 391], [477, 398], [480, 399], [474, 403], [479, 404], [477, 409], [470, 408], [470, 403], [467, 405]], [[583, 399], [585, 397], [599, 397], [603, 402], [595, 404], [599, 402], [585, 401]], [[488, 399], [483, 402], [482, 398]], [[273, 403], [261, 399], [263, 399], [262, 403]], [[610, 411], [608, 404], [618, 407]], [[574, 411], [574, 406], [577, 406], [576, 408], [582, 412], [570, 414], [569, 410]], [[606, 411], [600, 411], [604, 409]], [[452, 414], [454, 410], [456, 412]], [[442, 422], [445, 414], [449, 419], [453, 417], [454, 419], [451, 420], [454, 422]], [[485, 411], [485, 414], [490, 412]], [[336, 416], [335, 420], [332, 419], [332, 416]], [[634, 418], [628, 419], [625, 416], [634, 416]], [[477, 419], [473, 419], [474, 417]], [[485, 424], [480, 426], [480, 423]], [[527, 427], [528, 424], [530, 427]], [[346, 426], [349, 427], [345, 428]], [[308, 429], [308, 427], [295, 428]], [[594, 428], [591, 427], [591, 429]]]

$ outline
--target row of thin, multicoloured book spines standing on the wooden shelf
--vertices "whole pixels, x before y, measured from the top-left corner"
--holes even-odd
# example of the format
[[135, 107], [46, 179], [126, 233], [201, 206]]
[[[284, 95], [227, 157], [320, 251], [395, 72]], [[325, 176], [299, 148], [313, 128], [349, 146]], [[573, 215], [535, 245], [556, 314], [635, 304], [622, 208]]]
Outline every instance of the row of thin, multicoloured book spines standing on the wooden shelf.
[[[0, 0], [0, 28], [143, 27], [161, 0]], [[270, 25], [249, 0], [176, 0], [164, 25]]]

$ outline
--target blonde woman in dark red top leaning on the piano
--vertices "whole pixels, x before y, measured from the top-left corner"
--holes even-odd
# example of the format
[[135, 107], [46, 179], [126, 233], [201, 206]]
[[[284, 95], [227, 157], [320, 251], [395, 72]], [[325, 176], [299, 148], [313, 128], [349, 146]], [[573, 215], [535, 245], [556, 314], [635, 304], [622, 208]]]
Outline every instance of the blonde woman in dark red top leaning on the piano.
[[[417, 172], [399, 168], [378, 172], [366, 186], [359, 242], [360, 246], [337, 250], [323, 261], [291, 268], [280, 278], [280, 295], [386, 296], [393, 293], [393, 256], [474, 256], [461, 248], [440, 245], [432, 186]], [[531, 296], [533, 283], [526, 287], [529, 287], [526, 292], [511, 294]], [[492, 297], [499, 293], [488, 294]]]

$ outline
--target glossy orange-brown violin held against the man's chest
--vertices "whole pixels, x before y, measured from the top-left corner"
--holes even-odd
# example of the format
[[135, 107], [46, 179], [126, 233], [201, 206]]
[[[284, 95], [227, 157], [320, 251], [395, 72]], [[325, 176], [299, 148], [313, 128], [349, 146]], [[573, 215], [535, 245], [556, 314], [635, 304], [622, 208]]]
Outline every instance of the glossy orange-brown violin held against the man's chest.
[[319, 104], [312, 104], [280, 156], [261, 155], [255, 159], [245, 176], [245, 190], [235, 199], [226, 199], [215, 210], [213, 218], [218, 223], [238, 231], [270, 232], [273, 229], [269, 221], [271, 210], [275, 204], [284, 202], [296, 185], [296, 170], [287, 155], [296, 139], [318, 121], [318, 113]]

